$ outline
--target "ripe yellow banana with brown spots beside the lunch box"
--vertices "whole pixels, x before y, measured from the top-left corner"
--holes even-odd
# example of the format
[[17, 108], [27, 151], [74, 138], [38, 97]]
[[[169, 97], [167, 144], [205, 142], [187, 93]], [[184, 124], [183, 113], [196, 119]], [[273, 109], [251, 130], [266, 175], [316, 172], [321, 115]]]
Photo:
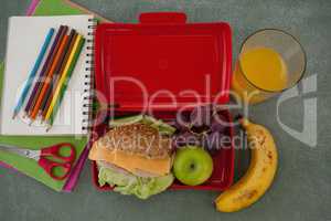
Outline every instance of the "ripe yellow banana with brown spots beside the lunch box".
[[250, 149], [247, 172], [215, 200], [222, 212], [235, 212], [256, 202], [273, 183], [277, 170], [277, 149], [270, 131], [261, 125], [242, 118]]

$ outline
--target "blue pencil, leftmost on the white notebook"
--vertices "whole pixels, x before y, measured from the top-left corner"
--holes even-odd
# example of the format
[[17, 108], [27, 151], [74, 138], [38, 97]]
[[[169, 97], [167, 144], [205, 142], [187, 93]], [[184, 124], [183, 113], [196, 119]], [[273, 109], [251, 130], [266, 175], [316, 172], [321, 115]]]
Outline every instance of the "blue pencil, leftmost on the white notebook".
[[34, 63], [34, 65], [33, 65], [33, 69], [30, 72], [29, 78], [25, 82], [24, 88], [22, 90], [21, 96], [20, 96], [20, 98], [18, 101], [18, 104], [17, 104], [14, 110], [13, 110], [12, 118], [15, 118], [15, 116], [19, 114], [19, 112], [20, 112], [20, 109], [21, 109], [21, 107], [22, 107], [22, 105], [23, 105], [23, 103], [24, 103], [24, 101], [26, 98], [26, 95], [28, 95], [28, 92], [30, 90], [30, 86], [31, 86], [31, 84], [33, 82], [33, 78], [35, 77], [35, 74], [36, 74], [36, 72], [39, 70], [40, 64], [43, 61], [43, 57], [44, 57], [44, 55], [46, 53], [46, 50], [47, 50], [47, 48], [49, 48], [49, 45], [51, 43], [53, 34], [54, 34], [54, 29], [52, 28], [52, 29], [50, 29], [50, 31], [49, 31], [49, 33], [47, 33], [47, 35], [45, 38], [45, 42], [43, 43], [42, 49], [41, 49], [41, 51], [40, 51], [40, 53], [39, 53], [39, 55], [36, 57], [36, 61]]

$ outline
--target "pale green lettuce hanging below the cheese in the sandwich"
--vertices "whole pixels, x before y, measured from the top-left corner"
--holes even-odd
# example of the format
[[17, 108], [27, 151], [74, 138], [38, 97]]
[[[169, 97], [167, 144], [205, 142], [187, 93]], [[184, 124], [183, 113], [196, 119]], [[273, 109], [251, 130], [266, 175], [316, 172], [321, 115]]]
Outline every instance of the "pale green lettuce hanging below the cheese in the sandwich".
[[148, 199], [152, 194], [164, 191], [172, 182], [173, 175], [162, 177], [146, 178], [137, 177], [132, 173], [122, 173], [108, 167], [99, 168], [99, 185], [106, 183], [114, 187], [114, 191], [121, 194], [135, 194], [139, 199]]

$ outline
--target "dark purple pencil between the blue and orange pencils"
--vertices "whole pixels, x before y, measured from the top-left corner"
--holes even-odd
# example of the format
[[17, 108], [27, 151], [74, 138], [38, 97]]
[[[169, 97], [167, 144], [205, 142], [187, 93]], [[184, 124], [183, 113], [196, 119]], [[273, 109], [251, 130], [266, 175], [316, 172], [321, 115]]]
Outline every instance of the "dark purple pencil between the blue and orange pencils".
[[63, 29], [64, 29], [64, 25], [61, 25], [60, 29], [58, 29], [58, 31], [57, 31], [57, 33], [56, 33], [56, 36], [55, 36], [55, 39], [53, 41], [52, 48], [51, 48], [51, 50], [50, 50], [50, 52], [47, 54], [46, 61], [44, 62], [43, 69], [40, 72], [39, 78], [34, 83], [33, 91], [30, 94], [29, 101], [28, 101], [28, 103], [25, 105], [25, 108], [24, 108], [24, 112], [26, 114], [29, 114], [31, 107], [33, 106], [34, 99], [36, 98], [38, 91], [39, 91], [40, 85], [42, 83], [41, 81], [44, 78], [44, 76], [46, 74], [46, 71], [49, 69], [49, 65], [53, 61], [53, 54], [54, 54], [54, 51], [56, 50], [56, 46], [57, 46], [57, 43], [58, 43], [58, 39], [61, 38], [61, 35], [63, 33]]

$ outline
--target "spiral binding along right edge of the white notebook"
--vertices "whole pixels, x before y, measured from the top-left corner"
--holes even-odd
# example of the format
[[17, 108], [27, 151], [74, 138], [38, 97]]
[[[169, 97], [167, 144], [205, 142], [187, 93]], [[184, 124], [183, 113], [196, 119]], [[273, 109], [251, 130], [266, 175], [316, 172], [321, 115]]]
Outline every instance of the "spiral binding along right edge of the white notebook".
[[85, 81], [84, 81], [84, 97], [83, 97], [83, 122], [82, 131], [88, 134], [92, 127], [93, 115], [93, 91], [94, 91], [94, 34], [95, 27], [97, 24], [96, 19], [88, 19], [88, 30], [86, 36], [86, 61], [85, 61]]

